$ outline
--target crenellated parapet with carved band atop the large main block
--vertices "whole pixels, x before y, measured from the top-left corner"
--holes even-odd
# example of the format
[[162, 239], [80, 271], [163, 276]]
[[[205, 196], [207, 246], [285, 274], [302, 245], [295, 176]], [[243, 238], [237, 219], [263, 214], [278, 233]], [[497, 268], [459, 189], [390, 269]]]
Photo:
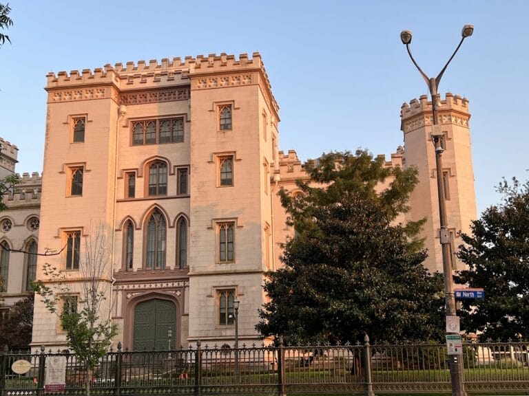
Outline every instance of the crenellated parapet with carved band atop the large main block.
[[[278, 112], [271, 85], [260, 54], [238, 58], [227, 54], [198, 55], [196, 58], [163, 58], [156, 60], [108, 64], [82, 72], [48, 74], [48, 102], [69, 102], [112, 98], [118, 104], [139, 104], [188, 100], [192, 89], [212, 89], [259, 85], [269, 103]], [[149, 90], [148, 93], [143, 91]]]

